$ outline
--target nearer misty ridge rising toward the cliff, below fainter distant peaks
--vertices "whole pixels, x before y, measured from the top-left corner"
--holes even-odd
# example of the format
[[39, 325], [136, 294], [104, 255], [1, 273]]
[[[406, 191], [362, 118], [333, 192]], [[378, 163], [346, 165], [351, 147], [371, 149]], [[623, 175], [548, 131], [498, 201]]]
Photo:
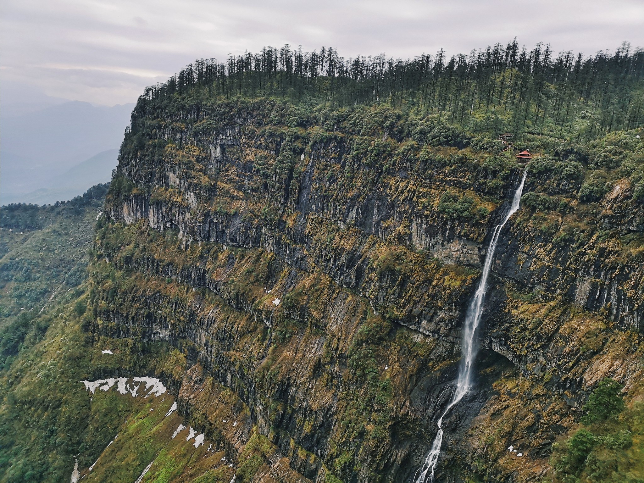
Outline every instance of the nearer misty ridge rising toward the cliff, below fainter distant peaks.
[[53, 204], [57, 201], [71, 200], [88, 187], [106, 183], [111, 179], [112, 170], [117, 167], [118, 149], [108, 149], [90, 159], [71, 167], [66, 173], [55, 176], [51, 188], [39, 188], [21, 196], [22, 203], [36, 205]]

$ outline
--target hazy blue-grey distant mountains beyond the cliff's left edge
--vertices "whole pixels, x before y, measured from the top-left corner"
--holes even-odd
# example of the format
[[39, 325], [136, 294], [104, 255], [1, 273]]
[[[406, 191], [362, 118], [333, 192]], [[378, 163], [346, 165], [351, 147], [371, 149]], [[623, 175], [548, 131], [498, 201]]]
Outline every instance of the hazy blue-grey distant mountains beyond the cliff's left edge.
[[[71, 101], [37, 111], [27, 109], [21, 115], [12, 114], [18, 108], [10, 113], [3, 109], [0, 204], [27, 202], [34, 199], [33, 193], [37, 190], [45, 196], [43, 189], [50, 194], [55, 191], [59, 196], [70, 193], [72, 185], [61, 175], [85, 160], [89, 161], [91, 156], [98, 156], [97, 153], [103, 155], [105, 151], [118, 149], [133, 106], [124, 104], [108, 108]], [[113, 166], [108, 172], [111, 169]], [[86, 175], [91, 178], [89, 173]], [[107, 180], [109, 177], [100, 176], [100, 181]], [[73, 185], [72, 191], [82, 194], [95, 182], [90, 181], [83, 187]], [[49, 194], [46, 198], [49, 199]]]

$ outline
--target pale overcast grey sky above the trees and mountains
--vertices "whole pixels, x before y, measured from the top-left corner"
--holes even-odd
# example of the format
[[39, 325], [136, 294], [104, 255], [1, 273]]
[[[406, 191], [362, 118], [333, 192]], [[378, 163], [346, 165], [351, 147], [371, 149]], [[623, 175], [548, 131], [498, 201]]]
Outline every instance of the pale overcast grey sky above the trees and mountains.
[[3, 101], [135, 102], [198, 58], [332, 46], [408, 59], [444, 48], [551, 44], [592, 55], [644, 47], [644, 0], [3, 0]]

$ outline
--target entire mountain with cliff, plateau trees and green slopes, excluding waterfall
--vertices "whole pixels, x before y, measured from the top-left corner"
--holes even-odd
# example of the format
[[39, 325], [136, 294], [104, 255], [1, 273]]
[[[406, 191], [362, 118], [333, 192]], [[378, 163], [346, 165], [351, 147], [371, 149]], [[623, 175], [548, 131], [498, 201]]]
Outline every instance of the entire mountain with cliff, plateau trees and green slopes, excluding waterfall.
[[[643, 62], [286, 46], [147, 89], [100, 216], [3, 208], [1, 480], [420, 483], [524, 173], [435, 481], [644, 478]], [[63, 210], [87, 279], [23, 317], [76, 252], [11, 237]]]

